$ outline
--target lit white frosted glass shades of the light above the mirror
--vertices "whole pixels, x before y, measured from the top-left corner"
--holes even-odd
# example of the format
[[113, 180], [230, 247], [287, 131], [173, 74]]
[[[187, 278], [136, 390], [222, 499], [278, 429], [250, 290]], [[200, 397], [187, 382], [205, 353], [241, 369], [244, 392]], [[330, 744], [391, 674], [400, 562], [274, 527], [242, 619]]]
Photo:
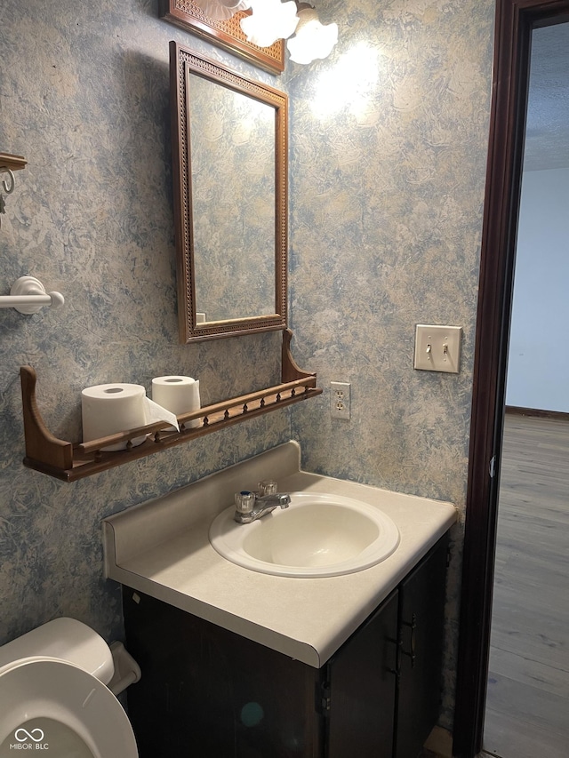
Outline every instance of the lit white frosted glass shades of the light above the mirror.
[[327, 58], [338, 42], [338, 24], [323, 24], [314, 5], [299, 0], [196, 0], [196, 4], [217, 20], [251, 9], [240, 21], [247, 42], [270, 47], [278, 39], [288, 39], [286, 46], [295, 63]]

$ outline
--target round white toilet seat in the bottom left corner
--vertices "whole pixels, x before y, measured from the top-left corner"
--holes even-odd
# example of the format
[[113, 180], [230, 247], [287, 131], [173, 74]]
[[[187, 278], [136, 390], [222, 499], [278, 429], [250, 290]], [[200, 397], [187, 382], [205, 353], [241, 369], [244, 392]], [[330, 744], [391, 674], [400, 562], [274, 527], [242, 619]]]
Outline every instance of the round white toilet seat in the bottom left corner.
[[0, 702], [0, 758], [4, 758], [3, 751], [14, 754], [10, 744], [31, 747], [41, 739], [40, 734], [52, 755], [66, 758], [57, 745], [57, 729], [52, 730], [50, 745], [51, 722], [44, 729], [35, 729], [34, 719], [41, 719], [42, 725], [45, 719], [59, 722], [64, 731], [67, 727], [76, 733], [82, 749], [69, 755], [138, 756], [132, 726], [116, 697], [96, 677], [68, 661], [34, 656], [0, 667]]

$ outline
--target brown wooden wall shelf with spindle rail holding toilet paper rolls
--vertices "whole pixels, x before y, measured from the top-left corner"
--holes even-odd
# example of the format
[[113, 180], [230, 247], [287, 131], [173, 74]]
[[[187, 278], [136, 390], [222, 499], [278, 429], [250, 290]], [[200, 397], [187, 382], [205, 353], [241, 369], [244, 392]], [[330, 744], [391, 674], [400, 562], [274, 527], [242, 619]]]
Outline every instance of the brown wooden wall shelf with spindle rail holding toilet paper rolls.
[[[76, 479], [83, 479], [85, 476], [98, 474], [108, 468], [122, 466], [124, 463], [145, 458], [154, 452], [208, 435], [217, 429], [230, 427], [247, 419], [255, 419], [269, 411], [276, 411], [286, 405], [300, 403], [301, 400], [321, 395], [322, 389], [316, 386], [317, 375], [302, 371], [294, 363], [290, 351], [292, 337], [292, 331], [283, 332], [282, 384], [235, 397], [223, 403], [214, 403], [198, 411], [184, 413], [177, 417], [180, 432], [165, 431], [164, 427], [169, 426], [168, 422], [159, 421], [89, 443], [68, 443], [48, 431], [37, 408], [36, 371], [31, 366], [22, 366], [20, 379], [26, 439], [24, 465], [55, 476], [63, 482], [75, 482]], [[201, 426], [186, 428], [184, 424], [193, 419], [200, 419]], [[148, 435], [147, 440], [132, 447], [131, 440], [145, 434]], [[120, 442], [127, 443], [126, 450], [101, 451], [103, 447]]]

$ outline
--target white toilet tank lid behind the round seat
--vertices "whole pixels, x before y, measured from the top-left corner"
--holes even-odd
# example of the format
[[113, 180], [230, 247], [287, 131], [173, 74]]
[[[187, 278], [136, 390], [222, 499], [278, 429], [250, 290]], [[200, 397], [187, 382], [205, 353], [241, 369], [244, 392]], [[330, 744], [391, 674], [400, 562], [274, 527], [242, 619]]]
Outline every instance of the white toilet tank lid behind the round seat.
[[54, 618], [0, 647], [0, 666], [29, 656], [68, 660], [108, 684], [115, 671], [107, 642], [76, 618]]

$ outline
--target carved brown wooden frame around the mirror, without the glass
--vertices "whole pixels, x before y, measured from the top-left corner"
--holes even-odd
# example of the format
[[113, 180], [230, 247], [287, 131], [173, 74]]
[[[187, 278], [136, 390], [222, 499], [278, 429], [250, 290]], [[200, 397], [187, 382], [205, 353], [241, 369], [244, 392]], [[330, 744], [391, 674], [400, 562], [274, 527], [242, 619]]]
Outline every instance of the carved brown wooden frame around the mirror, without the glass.
[[[195, 74], [275, 108], [275, 313], [227, 321], [197, 323], [193, 254], [188, 76]], [[288, 98], [284, 92], [236, 74], [220, 63], [170, 43], [172, 97], [172, 168], [180, 342], [217, 339], [287, 325], [288, 249]]]

